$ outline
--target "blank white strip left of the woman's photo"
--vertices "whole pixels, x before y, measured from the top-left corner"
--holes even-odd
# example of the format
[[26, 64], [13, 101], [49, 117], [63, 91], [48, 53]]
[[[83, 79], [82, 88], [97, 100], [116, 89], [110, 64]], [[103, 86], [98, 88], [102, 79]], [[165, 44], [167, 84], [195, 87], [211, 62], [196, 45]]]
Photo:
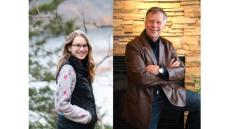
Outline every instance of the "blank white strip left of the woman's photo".
[[0, 121], [2, 129], [27, 129], [28, 1], [0, 4]]

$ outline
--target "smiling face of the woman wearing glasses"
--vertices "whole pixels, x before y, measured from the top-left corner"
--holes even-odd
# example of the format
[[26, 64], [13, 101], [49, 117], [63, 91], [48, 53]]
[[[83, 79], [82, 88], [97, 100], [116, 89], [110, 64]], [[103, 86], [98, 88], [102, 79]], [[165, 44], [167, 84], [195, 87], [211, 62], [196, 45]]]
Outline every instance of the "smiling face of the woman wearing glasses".
[[72, 45], [68, 48], [71, 54], [79, 60], [85, 59], [88, 55], [88, 43], [84, 37], [77, 36], [74, 38]]

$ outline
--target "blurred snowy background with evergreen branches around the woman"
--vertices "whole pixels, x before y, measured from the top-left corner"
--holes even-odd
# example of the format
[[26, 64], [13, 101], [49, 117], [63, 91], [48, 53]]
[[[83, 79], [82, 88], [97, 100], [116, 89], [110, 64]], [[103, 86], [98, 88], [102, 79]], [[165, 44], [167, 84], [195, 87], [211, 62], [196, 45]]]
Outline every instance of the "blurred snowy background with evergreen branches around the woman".
[[29, 128], [55, 129], [56, 64], [65, 36], [85, 31], [97, 64], [93, 83], [100, 117], [113, 126], [112, 0], [29, 0]]

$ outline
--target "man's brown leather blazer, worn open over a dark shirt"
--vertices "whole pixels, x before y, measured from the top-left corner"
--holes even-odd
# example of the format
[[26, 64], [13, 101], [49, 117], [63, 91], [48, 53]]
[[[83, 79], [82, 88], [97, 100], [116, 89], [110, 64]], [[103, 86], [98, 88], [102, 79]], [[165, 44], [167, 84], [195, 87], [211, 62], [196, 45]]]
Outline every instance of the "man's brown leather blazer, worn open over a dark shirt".
[[173, 83], [175, 80], [184, 78], [184, 64], [179, 60], [180, 67], [167, 67], [173, 58], [179, 60], [172, 43], [160, 37], [159, 65], [166, 66], [169, 73], [169, 80], [164, 80], [160, 76], [145, 70], [147, 65], [157, 64], [153, 50], [146, 39], [145, 31], [127, 44], [125, 62], [128, 89], [124, 99], [122, 115], [131, 126], [138, 129], [148, 128], [152, 113], [152, 87], [154, 86], [160, 85], [173, 105], [181, 107], [186, 105], [185, 89]]

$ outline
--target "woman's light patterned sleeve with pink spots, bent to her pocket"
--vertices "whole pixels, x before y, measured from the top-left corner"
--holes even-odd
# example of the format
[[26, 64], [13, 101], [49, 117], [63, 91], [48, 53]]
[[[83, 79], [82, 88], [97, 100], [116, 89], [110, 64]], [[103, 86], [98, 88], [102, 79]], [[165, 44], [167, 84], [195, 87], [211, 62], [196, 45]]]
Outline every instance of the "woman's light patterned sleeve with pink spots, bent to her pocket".
[[59, 115], [74, 122], [87, 124], [91, 121], [89, 111], [71, 104], [71, 94], [75, 88], [76, 73], [71, 65], [64, 65], [57, 78], [55, 109]]

